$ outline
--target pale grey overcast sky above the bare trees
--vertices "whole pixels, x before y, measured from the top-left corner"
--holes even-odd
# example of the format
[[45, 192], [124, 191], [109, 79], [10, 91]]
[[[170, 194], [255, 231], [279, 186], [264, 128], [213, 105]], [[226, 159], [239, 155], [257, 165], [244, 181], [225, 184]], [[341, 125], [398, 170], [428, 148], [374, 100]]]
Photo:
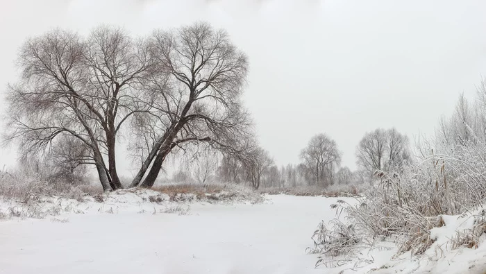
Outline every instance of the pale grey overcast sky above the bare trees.
[[[22, 42], [51, 28], [116, 24], [137, 36], [204, 20], [249, 55], [244, 100], [277, 164], [298, 163], [325, 132], [354, 169], [364, 132], [431, 134], [486, 74], [486, 1], [398, 2], [0, 0], [0, 87], [17, 77]], [[3, 149], [1, 166], [12, 157]]]

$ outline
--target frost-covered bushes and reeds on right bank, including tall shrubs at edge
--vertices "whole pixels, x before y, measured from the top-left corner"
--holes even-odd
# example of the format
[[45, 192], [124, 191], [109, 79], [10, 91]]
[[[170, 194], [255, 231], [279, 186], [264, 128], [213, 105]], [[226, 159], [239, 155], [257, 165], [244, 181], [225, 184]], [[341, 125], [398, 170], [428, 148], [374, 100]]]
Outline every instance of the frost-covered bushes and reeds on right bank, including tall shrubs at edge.
[[[370, 243], [392, 239], [399, 254], [420, 255], [437, 241], [430, 233], [445, 225], [443, 216], [475, 212], [486, 205], [486, 80], [478, 95], [475, 105], [461, 96], [453, 116], [441, 120], [436, 135], [417, 144], [417, 161], [376, 171], [374, 186], [362, 194], [364, 198], [342, 208], [346, 223], [331, 228], [333, 232], [320, 226], [319, 233], [332, 235], [353, 224]], [[475, 222], [450, 239], [453, 248], [480, 244], [486, 222], [482, 216]]]

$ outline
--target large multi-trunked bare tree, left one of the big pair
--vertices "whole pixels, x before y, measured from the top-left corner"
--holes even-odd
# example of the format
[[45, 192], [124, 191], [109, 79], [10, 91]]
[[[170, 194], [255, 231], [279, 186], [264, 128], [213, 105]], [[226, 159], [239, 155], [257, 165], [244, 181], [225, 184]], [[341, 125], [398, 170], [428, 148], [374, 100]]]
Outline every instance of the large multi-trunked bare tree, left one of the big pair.
[[143, 43], [119, 28], [100, 27], [87, 38], [55, 30], [28, 40], [18, 58], [21, 78], [8, 92], [7, 139], [19, 139], [24, 153], [43, 153], [76, 138], [89, 148], [84, 163], [96, 166], [103, 189], [121, 188], [115, 144], [124, 122], [146, 111], [137, 95], [151, 66], [147, 56]]

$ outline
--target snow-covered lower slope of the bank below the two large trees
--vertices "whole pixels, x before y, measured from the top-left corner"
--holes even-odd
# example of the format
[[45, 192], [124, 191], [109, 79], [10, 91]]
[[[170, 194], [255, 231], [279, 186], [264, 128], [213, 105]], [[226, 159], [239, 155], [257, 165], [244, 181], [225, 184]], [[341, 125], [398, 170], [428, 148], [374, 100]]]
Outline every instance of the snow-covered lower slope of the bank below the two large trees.
[[263, 203], [265, 197], [240, 191], [203, 196], [186, 193], [169, 196], [150, 189], [121, 189], [76, 200], [58, 196], [31, 196], [23, 201], [1, 200], [0, 219], [67, 216], [68, 214], [117, 214], [157, 212], [187, 214], [190, 203]]

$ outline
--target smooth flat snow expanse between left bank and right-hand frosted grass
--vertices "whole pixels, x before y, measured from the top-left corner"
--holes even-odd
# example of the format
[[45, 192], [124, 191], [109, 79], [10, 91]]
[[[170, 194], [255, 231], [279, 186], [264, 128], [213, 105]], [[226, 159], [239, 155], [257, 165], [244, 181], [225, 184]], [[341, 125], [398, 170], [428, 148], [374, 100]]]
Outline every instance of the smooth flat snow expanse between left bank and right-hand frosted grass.
[[305, 248], [319, 221], [335, 216], [336, 200], [192, 203], [185, 215], [108, 203], [86, 214], [1, 221], [0, 273], [328, 273]]

